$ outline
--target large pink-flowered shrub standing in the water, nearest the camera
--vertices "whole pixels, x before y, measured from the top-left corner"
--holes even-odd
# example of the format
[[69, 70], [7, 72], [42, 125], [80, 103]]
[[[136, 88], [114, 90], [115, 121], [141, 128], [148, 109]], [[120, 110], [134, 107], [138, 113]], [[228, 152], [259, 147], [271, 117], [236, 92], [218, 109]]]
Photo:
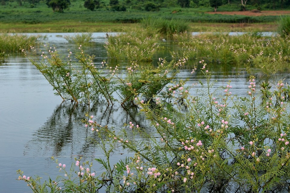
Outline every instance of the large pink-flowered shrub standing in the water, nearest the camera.
[[[212, 91], [215, 82], [204, 61], [200, 64], [207, 81], [200, 82], [202, 88], [195, 89], [196, 95], [184, 84], [186, 80], [180, 80], [166, 87], [167, 96], [154, 95], [151, 102], [136, 97], [140, 112], [151, 121], [156, 135], [132, 121], [117, 131], [87, 114], [84, 124], [98, 136], [95, 144], [105, 158], [96, 161], [104, 171], [96, 176], [90, 164], [88, 172], [82, 174], [88, 163], [81, 165], [77, 160], [71, 173], [55, 181], [59, 186], [63, 183], [56, 192], [69, 192], [71, 187], [81, 187], [80, 192], [99, 188], [108, 192], [202, 192], [211, 187], [213, 191], [230, 188], [258, 193], [285, 187], [290, 179], [290, 115], [284, 83], [279, 81], [275, 91], [269, 90], [269, 96], [275, 92], [276, 98], [264, 100], [257, 96], [253, 76], [247, 97], [233, 95], [231, 82]], [[276, 100], [279, 104], [274, 105]], [[140, 135], [141, 140], [136, 137]], [[134, 156], [112, 164], [111, 157], [119, 148]], [[28, 185], [45, 190], [53, 185], [27, 179], [21, 171], [19, 174]]]

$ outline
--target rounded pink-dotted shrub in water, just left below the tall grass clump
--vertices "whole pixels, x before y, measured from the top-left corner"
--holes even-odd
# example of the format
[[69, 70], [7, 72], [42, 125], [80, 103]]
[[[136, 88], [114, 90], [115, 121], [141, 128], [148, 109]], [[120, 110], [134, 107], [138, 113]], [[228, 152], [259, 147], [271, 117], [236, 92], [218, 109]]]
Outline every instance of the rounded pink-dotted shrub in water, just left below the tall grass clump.
[[157, 41], [157, 34], [139, 29], [109, 36], [105, 48], [108, 56], [117, 60], [151, 61], [158, 48]]

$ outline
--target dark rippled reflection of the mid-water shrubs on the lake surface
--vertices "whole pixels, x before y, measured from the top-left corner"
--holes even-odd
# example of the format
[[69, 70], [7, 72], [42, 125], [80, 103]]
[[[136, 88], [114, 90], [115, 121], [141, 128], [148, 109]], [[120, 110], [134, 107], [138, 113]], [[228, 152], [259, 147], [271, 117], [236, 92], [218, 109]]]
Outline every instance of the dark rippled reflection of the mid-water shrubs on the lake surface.
[[[91, 129], [86, 128], [81, 122], [87, 112], [94, 115], [97, 123], [113, 127], [116, 132], [123, 128], [124, 123], [130, 121], [135, 125], [139, 124], [147, 132], [152, 132], [149, 122], [146, 121], [144, 114], [138, 114], [137, 108], [106, 104], [95, 104], [88, 108], [88, 106], [64, 102], [58, 105], [46, 122], [33, 133], [32, 139], [25, 145], [24, 156], [81, 155], [90, 159], [101, 154], [90, 139], [98, 141], [96, 133], [91, 132]], [[126, 130], [128, 135], [132, 134], [132, 129], [126, 127]]]

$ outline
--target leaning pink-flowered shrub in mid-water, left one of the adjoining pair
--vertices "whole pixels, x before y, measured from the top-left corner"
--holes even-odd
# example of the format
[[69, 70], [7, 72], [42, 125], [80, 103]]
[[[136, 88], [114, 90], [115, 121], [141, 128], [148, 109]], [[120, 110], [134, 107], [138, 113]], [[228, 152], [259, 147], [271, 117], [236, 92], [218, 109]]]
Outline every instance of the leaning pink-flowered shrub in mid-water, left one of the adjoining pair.
[[[44, 45], [44, 49], [37, 52], [30, 46], [35, 56], [28, 58], [53, 86], [55, 95], [59, 95], [63, 101], [71, 100], [76, 103], [82, 101], [90, 104], [91, 99], [92, 102], [96, 102], [102, 97], [108, 103], [113, 103], [111, 94], [115, 89], [114, 81], [111, 79], [114, 73], [108, 72], [105, 75], [103, 66], [96, 68], [93, 62], [94, 56], [85, 54], [81, 45], [78, 48], [79, 52], [74, 55], [71, 51], [68, 51], [67, 55], [60, 54], [56, 47], [49, 45]], [[22, 51], [26, 55], [25, 50]]]

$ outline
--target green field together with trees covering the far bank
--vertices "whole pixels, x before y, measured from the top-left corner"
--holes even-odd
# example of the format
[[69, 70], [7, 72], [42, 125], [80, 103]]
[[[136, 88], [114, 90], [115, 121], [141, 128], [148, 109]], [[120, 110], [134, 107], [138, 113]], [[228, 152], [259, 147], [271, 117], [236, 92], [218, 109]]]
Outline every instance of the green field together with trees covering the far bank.
[[[217, 7], [216, 7], [217, 6]], [[80, 23], [137, 23], [146, 17], [183, 19], [189, 22], [253, 23], [276, 21], [278, 16], [207, 14], [208, 11], [287, 9], [290, 0], [248, 0], [245, 7], [238, 0], [1, 0], [0, 21], [22, 24], [53, 24], [62, 21], [72, 28]], [[73, 19], [72, 19], [73, 18]], [[10, 26], [11, 27], [11, 26]], [[53, 28], [53, 27], [52, 27]], [[53, 29], [52, 29], [53, 30]], [[89, 27], [86, 28], [86, 31]], [[83, 31], [74, 29], [73, 31]], [[104, 29], [106, 31], [106, 29]]]

